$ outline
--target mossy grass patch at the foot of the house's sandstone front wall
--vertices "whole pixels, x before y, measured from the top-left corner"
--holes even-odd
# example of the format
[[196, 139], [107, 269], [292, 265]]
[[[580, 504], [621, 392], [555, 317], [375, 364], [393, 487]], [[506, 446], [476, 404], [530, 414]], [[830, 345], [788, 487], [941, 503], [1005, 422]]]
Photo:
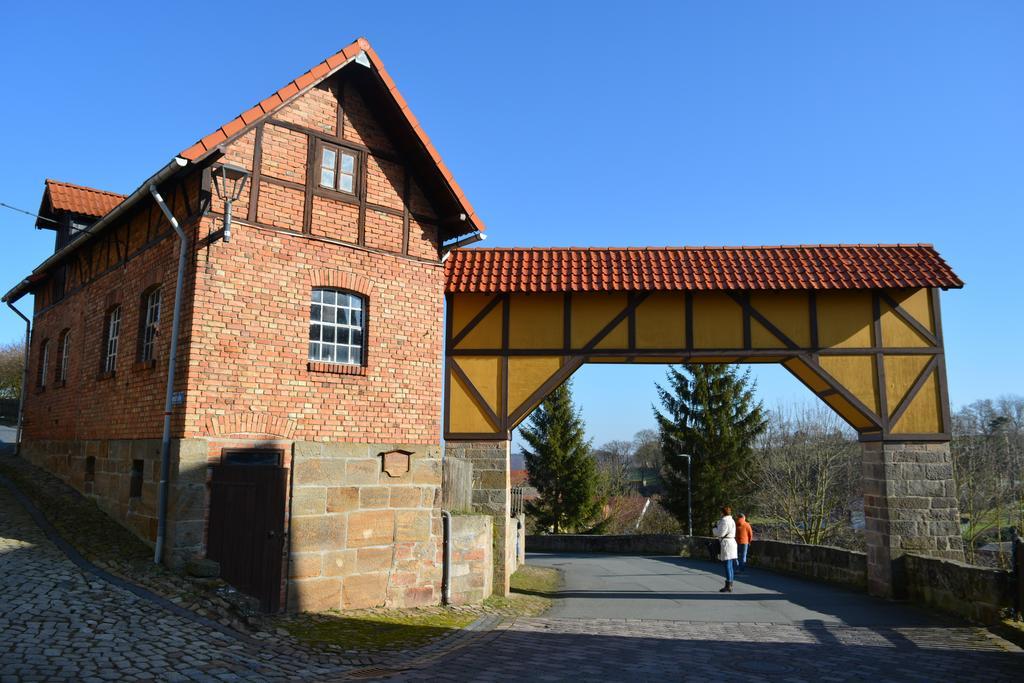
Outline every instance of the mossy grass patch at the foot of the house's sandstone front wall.
[[398, 650], [425, 645], [472, 624], [475, 612], [424, 607], [373, 612], [322, 612], [283, 618], [279, 626], [300, 642], [346, 651]]

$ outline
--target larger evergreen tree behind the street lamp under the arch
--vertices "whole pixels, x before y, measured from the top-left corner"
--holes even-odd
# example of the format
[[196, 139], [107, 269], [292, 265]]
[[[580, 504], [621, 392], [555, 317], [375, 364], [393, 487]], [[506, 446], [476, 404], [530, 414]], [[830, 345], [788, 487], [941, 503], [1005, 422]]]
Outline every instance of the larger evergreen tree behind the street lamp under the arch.
[[748, 473], [754, 441], [765, 429], [764, 410], [754, 399], [750, 371], [726, 365], [683, 365], [656, 385], [662, 411], [666, 494], [662, 504], [686, 524], [686, 459], [692, 458], [693, 533], [708, 536], [721, 508], [743, 510], [752, 500]]

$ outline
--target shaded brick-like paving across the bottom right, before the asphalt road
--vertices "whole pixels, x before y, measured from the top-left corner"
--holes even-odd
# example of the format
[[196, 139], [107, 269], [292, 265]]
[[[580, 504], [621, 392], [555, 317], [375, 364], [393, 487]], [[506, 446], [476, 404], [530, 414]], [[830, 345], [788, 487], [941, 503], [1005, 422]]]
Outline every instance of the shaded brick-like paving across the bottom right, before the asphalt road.
[[528, 618], [395, 681], [1021, 681], [1024, 654], [970, 627]]

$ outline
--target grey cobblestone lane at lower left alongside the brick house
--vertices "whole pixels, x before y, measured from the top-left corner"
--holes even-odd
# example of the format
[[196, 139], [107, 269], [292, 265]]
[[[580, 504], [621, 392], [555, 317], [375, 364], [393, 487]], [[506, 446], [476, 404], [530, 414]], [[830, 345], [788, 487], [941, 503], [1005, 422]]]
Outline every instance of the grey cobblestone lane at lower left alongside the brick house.
[[296, 658], [83, 573], [0, 486], [0, 681], [325, 680]]

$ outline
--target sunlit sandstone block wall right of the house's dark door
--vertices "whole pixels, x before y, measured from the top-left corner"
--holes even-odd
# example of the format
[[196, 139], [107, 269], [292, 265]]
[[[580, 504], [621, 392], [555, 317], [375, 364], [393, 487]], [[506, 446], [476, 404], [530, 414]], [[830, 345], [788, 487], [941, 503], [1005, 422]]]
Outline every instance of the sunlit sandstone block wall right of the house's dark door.
[[[392, 476], [382, 456], [395, 450], [412, 455]], [[297, 441], [292, 465], [290, 610], [440, 601], [437, 445]]]

